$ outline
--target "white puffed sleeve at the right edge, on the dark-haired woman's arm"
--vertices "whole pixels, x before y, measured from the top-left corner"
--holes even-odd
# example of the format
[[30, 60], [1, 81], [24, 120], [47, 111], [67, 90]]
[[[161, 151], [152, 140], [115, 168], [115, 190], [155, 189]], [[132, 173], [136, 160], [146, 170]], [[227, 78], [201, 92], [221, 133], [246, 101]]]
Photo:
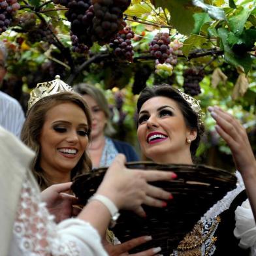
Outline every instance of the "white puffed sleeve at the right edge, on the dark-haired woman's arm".
[[235, 210], [236, 227], [234, 236], [240, 239], [240, 248], [250, 248], [251, 255], [256, 255], [256, 225], [249, 200], [246, 199]]

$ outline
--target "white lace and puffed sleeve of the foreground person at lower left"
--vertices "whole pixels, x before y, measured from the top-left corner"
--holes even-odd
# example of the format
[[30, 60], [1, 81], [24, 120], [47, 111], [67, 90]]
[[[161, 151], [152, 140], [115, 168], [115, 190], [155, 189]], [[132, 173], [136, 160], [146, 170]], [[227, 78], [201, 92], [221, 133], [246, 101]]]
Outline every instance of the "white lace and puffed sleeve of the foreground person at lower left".
[[80, 219], [58, 225], [40, 200], [40, 192], [27, 174], [14, 222], [9, 256], [106, 256], [98, 232]]

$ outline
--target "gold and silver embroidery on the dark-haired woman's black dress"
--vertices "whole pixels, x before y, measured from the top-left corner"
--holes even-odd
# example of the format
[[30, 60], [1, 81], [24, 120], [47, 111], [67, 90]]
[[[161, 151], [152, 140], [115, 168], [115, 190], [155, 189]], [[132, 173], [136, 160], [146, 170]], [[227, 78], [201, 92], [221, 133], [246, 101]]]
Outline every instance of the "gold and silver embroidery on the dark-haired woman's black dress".
[[[185, 237], [184, 240], [180, 242], [176, 253], [174, 255], [178, 256], [200, 256], [202, 255], [202, 244], [205, 243], [205, 254], [204, 255], [211, 255], [209, 254], [214, 247], [214, 243], [217, 240], [214, 232], [217, 229], [217, 225], [221, 218], [217, 216], [216, 218], [212, 219], [212, 221], [202, 222], [199, 221], [193, 228], [193, 231], [189, 232]], [[206, 244], [207, 241], [207, 244]]]

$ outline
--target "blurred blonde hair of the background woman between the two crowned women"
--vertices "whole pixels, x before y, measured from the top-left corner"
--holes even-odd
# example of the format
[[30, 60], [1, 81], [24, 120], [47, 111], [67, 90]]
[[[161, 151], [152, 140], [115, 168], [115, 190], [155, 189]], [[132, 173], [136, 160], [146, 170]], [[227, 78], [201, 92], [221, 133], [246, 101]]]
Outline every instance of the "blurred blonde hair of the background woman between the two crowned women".
[[86, 84], [86, 83], [76, 84], [73, 87], [73, 89], [74, 91], [77, 91], [81, 95], [91, 96], [99, 105], [99, 108], [101, 108], [101, 110], [104, 112], [106, 117], [106, 126], [104, 127], [105, 135], [111, 136], [114, 133], [116, 133], [116, 130], [112, 126], [112, 123], [110, 120], [110, 110], [108, 107], [108, 101], [106, 100], [106, 97], [104, 96], [103, 91], [95, 86], [91, 86], [90, 84]]

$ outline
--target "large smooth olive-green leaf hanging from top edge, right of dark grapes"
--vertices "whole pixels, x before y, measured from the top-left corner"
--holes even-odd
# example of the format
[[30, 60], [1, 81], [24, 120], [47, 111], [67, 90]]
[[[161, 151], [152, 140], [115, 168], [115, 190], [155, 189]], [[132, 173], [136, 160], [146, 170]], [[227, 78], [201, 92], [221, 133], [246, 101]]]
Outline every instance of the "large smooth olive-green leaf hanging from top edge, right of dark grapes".
[[152, 0], [155, 7], [167, 8], [172, 25], [182, 34], [189, 35], [194, 28], [193, 9], [190, 0]]

